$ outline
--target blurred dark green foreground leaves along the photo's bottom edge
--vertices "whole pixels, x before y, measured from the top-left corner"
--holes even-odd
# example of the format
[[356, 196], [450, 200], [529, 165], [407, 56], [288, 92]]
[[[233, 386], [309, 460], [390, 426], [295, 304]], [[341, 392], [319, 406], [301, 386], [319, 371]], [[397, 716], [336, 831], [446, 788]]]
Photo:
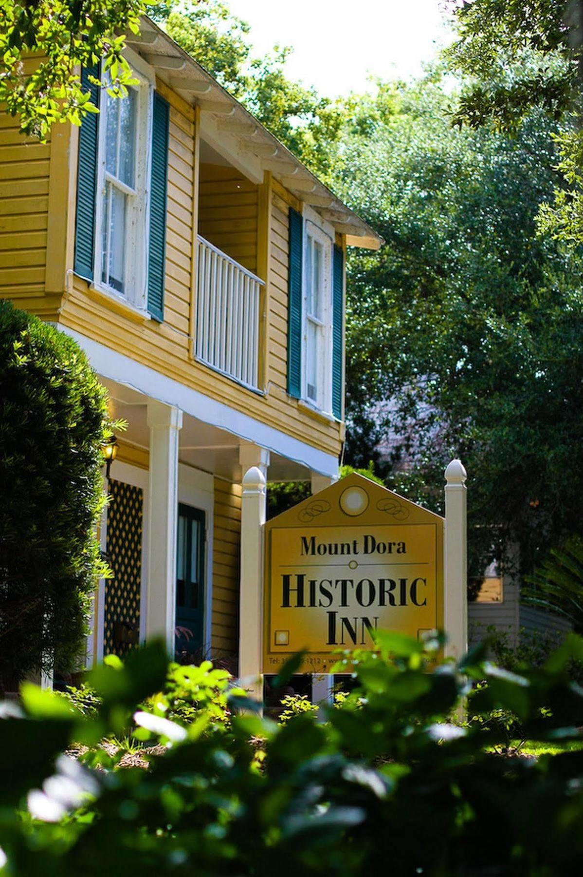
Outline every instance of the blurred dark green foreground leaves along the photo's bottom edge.
[[[437, 639], [380, 633], [377, 645], [340, 656], [341, 670], [354, 660], [355, 690], [324, 723], [312, 710], [283, 725], [261, 718], [206, 665], [171, 667], [166, 681], [156, 644], [93, 672], [96, 715], [25, 686], [0, 722], [9, 873], [578, 873], [583, 699], [565, 667], [583, 642], [515, 673], [483, 652], [441, 664]], [[468, 681], [480, 683], [470, 721], [453, 722]], [[508, 734], [495, 718], [510, 716], [563, 752], [536, 763], [493, 752]], [[95, 745], [112, 732], [158, 744], [141, 753], [148, 769], [116, 766]], [[80, 744], [81, 763], [60, 754]]]

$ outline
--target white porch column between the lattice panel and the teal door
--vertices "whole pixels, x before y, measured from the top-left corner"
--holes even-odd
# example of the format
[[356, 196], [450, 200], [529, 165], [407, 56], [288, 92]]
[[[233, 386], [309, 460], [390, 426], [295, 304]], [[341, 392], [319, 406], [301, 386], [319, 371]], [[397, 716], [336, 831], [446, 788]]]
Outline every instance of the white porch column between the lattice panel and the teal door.
[[174, 654], [176, 538], [178, 525], [179, 430], [182, 411], [148, 402], [150, 474], [148, 496], [148, 583], [146, 639], [161, 637]]

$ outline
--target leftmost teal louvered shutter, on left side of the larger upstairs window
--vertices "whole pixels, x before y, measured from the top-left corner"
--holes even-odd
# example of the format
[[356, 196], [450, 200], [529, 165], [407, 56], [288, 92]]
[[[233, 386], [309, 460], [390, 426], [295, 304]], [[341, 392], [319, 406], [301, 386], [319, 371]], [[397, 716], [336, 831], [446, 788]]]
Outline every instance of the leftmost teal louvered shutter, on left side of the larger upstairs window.
[[[90, 92], [91, 103], [99, 107], [99, 87], [89, 82], [89, 76], [99, 78], [98, 64], [81, 69], [81, 85]], [[74, 272], [86, 280], [93, 280], [98, 132], [99, 116], [97, 113], [88, 113], [79, 132], [74, 254]]]

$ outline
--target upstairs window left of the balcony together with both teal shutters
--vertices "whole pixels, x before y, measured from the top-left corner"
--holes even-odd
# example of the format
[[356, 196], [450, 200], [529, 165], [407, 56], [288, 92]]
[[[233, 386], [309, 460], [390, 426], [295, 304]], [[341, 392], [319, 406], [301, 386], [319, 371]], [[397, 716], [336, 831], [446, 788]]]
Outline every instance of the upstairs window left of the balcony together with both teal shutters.
[[99, 64], [81, 68], [100, 112], [88, 113], [79, 134], [74, 273], [102, 300], [161, 322], [170, 107], [151, 67], [126, 51], [135, 82], [125, 97], [109, 95]]

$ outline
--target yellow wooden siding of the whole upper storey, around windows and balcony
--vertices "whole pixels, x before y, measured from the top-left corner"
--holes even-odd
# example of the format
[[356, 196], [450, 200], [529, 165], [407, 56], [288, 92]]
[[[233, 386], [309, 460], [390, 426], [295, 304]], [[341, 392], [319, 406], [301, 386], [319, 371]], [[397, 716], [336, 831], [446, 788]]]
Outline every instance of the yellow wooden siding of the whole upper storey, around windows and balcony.
[[[159, 89], [171, 103], [164, 322], [144, 318], [73, 275], [78, 130], [63, 126], [58, 156], [55, 150], [52, 161], [50, 144], [25, 141], [14, 120], [1, 115], [0, 296], [336, 455], [341, 424], [302, 408], [287, 395], [287, 217], [290, 204], [300, 205], [275, 181], [272, 189], [257, 187], [233, 168], [215, 165], [202, 166], [200, 181], [200, 232], [245, 267], [266, 275], [260, 350], [264, 395], [193, 360], [195, 113], [161, 83]], [[52, 235], [60, 246], [47, 250], [52, 189], [67, 203], [68, 212], [64, 219], [60, 210], [53, 210], [49, 238]]]

